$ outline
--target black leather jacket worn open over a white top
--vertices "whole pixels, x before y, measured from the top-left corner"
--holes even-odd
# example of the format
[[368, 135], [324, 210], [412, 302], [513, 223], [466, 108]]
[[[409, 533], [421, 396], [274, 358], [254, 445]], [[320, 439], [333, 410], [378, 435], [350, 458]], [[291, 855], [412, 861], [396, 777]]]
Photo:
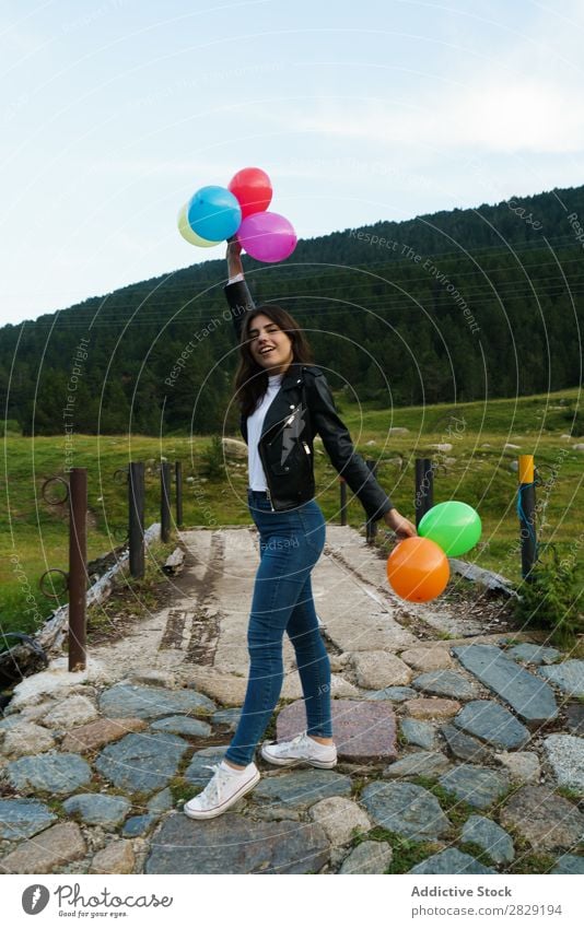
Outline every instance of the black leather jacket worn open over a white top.
[[[227, 284], [225, 295], [237, 338], [245, 313], [254, 308], [245, 281]], [[241, 420], [247, 444], [247, 421]], [[363, 505], [369, 519], [381, 519], [394, 504], [382, 490], [339, 419], [330, 389], [319, 367], [293, 363], [269, 407], [258, 450], [272, 509], [294, 509], [314, 497], [314, 437]]]

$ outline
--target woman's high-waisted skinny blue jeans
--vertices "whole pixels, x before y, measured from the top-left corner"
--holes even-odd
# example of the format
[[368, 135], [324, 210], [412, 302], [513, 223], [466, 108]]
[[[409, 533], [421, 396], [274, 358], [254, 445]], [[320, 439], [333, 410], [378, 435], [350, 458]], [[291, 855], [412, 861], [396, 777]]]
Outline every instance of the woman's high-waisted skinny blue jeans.
[[265, 493], [247, 491], [258, 530], [260, 564], [247, 632], [249, 679], [240, 724], [226, 759], [247, 765], [254, 759], [280, 697], [282, 639], [295, 650], [309, 735], [330, 738], [330, 663], [314, 608], [311, 572], [325, 547], [325, 518], [315, 500], [287, 512], [271, 512]]

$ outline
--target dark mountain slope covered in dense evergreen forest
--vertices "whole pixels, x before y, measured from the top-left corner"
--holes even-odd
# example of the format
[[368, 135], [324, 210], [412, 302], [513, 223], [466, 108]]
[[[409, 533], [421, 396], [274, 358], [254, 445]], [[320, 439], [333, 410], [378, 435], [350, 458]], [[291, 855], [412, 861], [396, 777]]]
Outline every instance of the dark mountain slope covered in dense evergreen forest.
[[[581, 381], [584, 187], [302, 240], [244, 259], [256, 302], [307, 329], [331, 385], [379, 404]], [[224, 261], [0, 330], [0, 395], [24, 434], [235, 431]], [[224, 421], [226, 414], [226, 421]]]

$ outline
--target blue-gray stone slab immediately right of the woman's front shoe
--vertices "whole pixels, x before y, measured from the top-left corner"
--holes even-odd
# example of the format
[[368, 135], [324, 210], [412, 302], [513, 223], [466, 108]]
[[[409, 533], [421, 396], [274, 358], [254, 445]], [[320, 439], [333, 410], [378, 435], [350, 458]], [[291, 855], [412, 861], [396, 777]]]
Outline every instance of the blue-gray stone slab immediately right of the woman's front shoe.
[[329, 796], [350, 796], [351, 778], [332, 771], [297, 771], [260, 779], [249, 798], [256, 804], [272, 802], [306, 809]]

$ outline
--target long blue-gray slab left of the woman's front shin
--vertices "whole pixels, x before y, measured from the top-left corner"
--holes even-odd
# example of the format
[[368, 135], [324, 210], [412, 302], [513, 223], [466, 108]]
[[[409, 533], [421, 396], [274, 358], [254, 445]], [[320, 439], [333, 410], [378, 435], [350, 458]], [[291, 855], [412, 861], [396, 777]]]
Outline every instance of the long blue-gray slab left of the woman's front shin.
[[102, 693], [100, 710], [109, 718], [162, 718], [177, 713], [208, 716], [217, 710], [217, 706], [208, 696], [194, 690], [116, 683]]

